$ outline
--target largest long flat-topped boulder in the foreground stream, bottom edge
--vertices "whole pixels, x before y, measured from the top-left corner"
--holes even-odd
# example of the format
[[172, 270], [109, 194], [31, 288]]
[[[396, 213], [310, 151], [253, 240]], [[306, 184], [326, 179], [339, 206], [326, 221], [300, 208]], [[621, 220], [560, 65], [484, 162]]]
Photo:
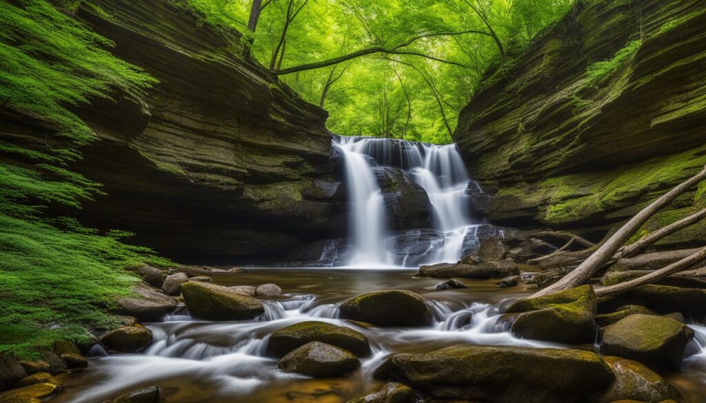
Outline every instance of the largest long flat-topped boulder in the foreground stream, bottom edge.
[[435, 398], [493, 403], [587, 402], [615, 375], [590, 351], [460, 344], [424, 354], [395, 354], [374, 373]]

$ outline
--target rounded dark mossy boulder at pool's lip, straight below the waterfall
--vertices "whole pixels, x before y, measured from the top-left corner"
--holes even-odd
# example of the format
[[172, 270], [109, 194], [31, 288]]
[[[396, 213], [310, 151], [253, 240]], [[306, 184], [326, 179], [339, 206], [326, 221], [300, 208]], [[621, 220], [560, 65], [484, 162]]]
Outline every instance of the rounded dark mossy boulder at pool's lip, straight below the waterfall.
[[428, 326], [431, 314], [424, 299], [412, 291], [390, 290], [361, 294], [343, 301], [341, 318], [378, 326]]

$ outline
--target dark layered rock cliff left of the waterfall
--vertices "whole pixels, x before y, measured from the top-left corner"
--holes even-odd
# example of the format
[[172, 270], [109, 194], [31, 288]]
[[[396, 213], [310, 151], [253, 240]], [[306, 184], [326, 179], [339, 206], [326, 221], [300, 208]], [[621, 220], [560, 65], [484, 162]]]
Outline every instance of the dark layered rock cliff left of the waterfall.
[[[238, 32], [175, 4], [90, 0], [74, 13], [159, 80], [76, 107], [100, 140], [71, 169], [107, 193], [82, 221], [181, 260], [273, 261], [333, 235], [325, 112], [244, 61]], [[14, 125], [28, 141], [47, 132], [23, 116]]]

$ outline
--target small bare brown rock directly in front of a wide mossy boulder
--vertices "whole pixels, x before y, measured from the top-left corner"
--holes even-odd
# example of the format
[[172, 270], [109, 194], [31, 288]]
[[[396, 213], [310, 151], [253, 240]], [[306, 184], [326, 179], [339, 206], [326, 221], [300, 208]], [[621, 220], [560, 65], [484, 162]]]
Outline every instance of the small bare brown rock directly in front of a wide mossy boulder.
[[290, 352], [280, 360], [282, 371], [314, 378], [341, 375], [360, 366], [350, 351], [321, 342], [311, 342]]

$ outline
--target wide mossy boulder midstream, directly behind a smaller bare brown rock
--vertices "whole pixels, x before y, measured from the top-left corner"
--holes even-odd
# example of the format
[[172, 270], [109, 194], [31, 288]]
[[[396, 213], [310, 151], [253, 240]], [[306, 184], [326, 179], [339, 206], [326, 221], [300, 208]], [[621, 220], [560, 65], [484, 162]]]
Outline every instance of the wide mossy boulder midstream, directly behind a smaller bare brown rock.
[[267, 344], [267, 354], [277, 357], [285, 356], [289, 351], [309, 342], [331, 344], [351, 351], [359, 357], [370, 355], [370, 344], [366, 335], [350, 327], [336, 326], [315, 320], [296, 323], [272, 332]]

